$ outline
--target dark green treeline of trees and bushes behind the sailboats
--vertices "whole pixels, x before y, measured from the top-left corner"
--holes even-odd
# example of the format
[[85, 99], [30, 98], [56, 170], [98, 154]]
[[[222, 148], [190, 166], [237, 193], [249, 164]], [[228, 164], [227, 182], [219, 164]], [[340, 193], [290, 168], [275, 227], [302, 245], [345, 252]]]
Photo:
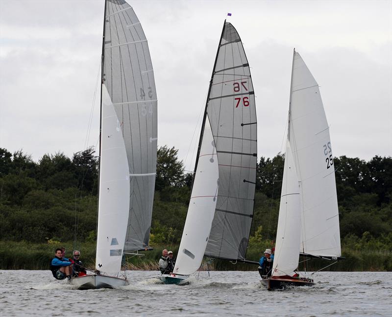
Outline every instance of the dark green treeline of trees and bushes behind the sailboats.
[[[381, 265], [370, 269], [392, 270], [392, 158], [375, 156], [367, 162], [342, 156], [334, 165], [343, 256], [354, 257], [353, 263], [370, 252], [382, 258]], [[274, 243], [283, 166], [282, 155], [258, 162], [250, 260], [257, 260], [261, 249]], [[192, 175], [184, 173], [177, 150], [160, 147], [150, 245], [178, 246], [191, 184]], [[72, 158], [44, 155], [38, 162], [23, 151], [12, 154], [0, 148], [0, 240], [74, 247], [94, 243], [97, 192], [98, 158], [93, 148]]]

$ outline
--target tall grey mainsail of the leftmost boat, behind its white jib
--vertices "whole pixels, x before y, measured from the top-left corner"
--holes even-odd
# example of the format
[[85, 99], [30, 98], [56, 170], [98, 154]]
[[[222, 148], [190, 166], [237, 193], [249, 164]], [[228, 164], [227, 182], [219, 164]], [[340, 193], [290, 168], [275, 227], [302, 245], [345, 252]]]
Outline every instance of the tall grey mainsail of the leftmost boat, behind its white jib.
[[124, 0], [106, 0], [102, 50], [102, 84], [117, 114], [129, 165], [124, 251], [131, 251], [148, 246], [156, 173], [157, 96], [146, 36]]

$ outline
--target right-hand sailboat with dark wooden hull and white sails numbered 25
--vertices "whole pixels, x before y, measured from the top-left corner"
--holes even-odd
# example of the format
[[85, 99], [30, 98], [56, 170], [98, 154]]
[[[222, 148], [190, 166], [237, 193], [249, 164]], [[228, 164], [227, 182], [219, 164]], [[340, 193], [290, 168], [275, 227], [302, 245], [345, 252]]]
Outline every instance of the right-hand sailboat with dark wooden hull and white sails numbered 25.
[[341, 259], [339, 212], [329, 126], [319, 85], [295, 51], [288, 135], [269, 290], [313, 285], [297, 276], [299, 255]]

